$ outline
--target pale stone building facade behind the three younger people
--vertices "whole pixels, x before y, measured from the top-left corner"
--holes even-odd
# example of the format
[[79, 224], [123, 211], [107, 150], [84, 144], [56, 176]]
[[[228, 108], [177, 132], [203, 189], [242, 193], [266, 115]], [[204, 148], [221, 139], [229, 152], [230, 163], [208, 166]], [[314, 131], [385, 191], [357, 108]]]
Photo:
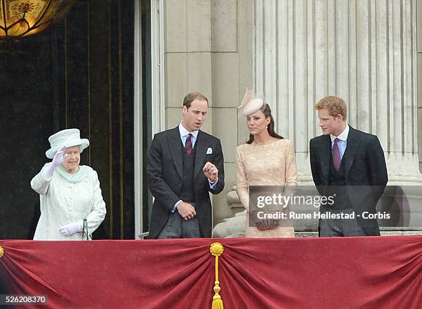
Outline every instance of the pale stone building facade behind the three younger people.
[[237, 110], [246, 87], [294, 142], [301, 184], [312, 184], [308, 143], [321, 134], [313, 106], [328, 94], [348, 103], [351, 126], [379, 137], [389, 185], [422, 184], [419, 1], [160, 0], [153, 14], [152, 130], [177, 126], [186, 93], [210, 100], [203, 130], [221, 139], [226, 177], [214, 225], [243, 210], [234, 186], [236, 146], [248, 137]]

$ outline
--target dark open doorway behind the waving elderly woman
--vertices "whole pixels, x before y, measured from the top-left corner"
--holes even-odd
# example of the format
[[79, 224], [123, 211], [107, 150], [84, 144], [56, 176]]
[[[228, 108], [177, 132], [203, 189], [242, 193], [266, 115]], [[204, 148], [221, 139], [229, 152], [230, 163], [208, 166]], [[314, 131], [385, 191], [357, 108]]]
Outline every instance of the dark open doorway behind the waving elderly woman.
[[50, 29], [0, 41], [0, 239], [32, 239], [30, 180], [63, 128], [90, 139], [81, 164], [97, 170], [108, 211], [94, 239], [134, 238], [133, 38], [133, 0], [79, 0]]

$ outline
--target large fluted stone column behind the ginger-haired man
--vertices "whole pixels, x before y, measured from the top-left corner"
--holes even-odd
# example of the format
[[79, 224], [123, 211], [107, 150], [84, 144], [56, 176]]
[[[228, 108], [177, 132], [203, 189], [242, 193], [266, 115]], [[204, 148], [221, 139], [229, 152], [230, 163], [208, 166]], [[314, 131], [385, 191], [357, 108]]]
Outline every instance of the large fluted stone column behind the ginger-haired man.
[[255, 0], [254, 88], [294, 141], [301, 183], [321, 134], [314, 103], [336, 94], [348, 123], [376, 134], [389, 184], [422, 184], [417, 139], [416, 0]]

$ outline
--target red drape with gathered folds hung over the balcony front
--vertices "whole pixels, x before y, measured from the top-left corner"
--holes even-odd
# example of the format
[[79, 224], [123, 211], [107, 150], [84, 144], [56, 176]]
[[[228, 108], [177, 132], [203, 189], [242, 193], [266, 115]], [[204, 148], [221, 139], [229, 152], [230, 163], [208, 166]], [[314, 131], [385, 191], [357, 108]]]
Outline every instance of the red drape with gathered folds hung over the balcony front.
[[0, 286], [49, 308], [211, 308], [217, 241], [225, 309], [422, 308], [422, 236], [0, 241]]

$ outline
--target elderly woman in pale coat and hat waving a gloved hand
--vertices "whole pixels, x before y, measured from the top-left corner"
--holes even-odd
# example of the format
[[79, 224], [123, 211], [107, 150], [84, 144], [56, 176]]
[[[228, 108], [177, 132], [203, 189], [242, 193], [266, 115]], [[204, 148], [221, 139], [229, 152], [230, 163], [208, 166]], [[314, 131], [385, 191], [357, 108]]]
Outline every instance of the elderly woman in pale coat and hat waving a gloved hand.
[[90, 142], [78, 129], [61, 130], [48, 138], [52, 159], [31, 180], [40, 197], [41, 216], [35, 230], [37, 240], [92, 239], [106, 217], [98, 175], [89, 166], [79, 166], [81, 152]]

